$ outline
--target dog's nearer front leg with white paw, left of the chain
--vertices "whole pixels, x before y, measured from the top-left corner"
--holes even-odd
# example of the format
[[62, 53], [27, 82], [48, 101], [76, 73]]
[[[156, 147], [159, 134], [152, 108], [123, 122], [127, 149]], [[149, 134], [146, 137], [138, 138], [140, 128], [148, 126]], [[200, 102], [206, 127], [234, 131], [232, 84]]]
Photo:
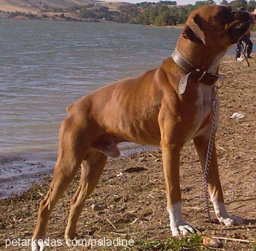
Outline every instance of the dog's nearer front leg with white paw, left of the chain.
[[180, 150], [181, 147], [176, 144], [170, 144], [168, 140], [161, 141], [163, 153], [163, 167], [167, 195], [167, 211], [170, 218], [170, 229], [173, 236], [187, 235], [195, 233], [182, 217], [181, 194], [180, 194]]

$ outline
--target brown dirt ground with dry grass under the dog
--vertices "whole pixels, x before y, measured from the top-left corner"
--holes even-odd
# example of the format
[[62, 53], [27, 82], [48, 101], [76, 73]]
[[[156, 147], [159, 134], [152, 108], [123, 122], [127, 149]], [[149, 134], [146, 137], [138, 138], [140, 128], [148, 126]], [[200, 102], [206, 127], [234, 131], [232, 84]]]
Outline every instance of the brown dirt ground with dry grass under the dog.
[[[168, 226], [160, 149], [108, 161], [78, 222], [77, 233], [83, 239], [120, 237], [135, 240], [135, 246], [127, 250], [205, 250], [207, 248], [202, 246], [205, 236], [255, 241], [256, 54], [252, 56], [250, 68], [246, 62], [234, 61], [233, 57], [225, 58], [221, 64], [220, 72], [225, 81], [220, 89], [221, 112], [217, 133], [219, 170], [226, 206], [231, 215], [245, 218], [247, 223], [225, 227], [206, 221], [202, 171], [194, 146], [188, 143], [181, 155], [182, 204], [184, 218], [200, 231], [197, 244], [166, 244], [173, 238]], [[244, 118], [230, 119], [234, 112], [243, 113]], [[48, 190], [49, 180], [50, 177], [42, 185], [33, 185], [22, 196], [0, 201], [0, 250], [6, 250], [7, 238], [31, 238], [38, 205]], [[48, 227], [51, 239], [63, 239], [69, 200], [78, 182], [79, 175], [55, 207]], [[216, 219], [213, 213], [212, 217]], [[191, 241], [189, 238], [185, 240]], [[255, 250], [255, 243], [222, 242], [223, 248], [219, 250]], [[122, 250], [124, 247], [110, 249]], [[28, 248], [13, 246], [8, 250]], [[86, 250], [86, 247], [62, 246], [52, 250]]]

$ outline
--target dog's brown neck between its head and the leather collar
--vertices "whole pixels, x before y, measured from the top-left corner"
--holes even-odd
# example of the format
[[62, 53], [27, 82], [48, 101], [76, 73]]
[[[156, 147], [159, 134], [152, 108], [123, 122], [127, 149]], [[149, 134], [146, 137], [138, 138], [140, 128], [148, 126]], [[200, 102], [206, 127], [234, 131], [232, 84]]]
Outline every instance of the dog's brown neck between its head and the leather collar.
[[196, 44], [188, 39], [179, 38], [177, 42], [177, 50], [189, 62], [197, 65], [208, 73], [218, 73], [219, 64], [225, 51], [218, 51], [218, 48], [209, 50], [207, 45]]

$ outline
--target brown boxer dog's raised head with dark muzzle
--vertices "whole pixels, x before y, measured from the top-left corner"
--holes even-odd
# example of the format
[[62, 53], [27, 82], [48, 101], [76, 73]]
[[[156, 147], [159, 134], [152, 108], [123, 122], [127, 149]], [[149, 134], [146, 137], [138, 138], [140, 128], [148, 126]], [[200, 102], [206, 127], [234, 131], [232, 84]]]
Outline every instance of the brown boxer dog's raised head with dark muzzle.
[[254, 25], [253, 16], [243, 10], [208, 5], [193, 11], [185, 24], [182, 37], [205, 47], [219, 47], [223, 51]]

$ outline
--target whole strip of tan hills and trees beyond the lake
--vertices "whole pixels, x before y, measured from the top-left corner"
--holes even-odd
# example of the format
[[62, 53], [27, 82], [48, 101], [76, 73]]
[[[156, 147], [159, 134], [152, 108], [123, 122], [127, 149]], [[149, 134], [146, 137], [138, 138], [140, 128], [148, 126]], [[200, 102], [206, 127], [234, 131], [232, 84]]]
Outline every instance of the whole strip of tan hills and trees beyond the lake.
[[[191, 11], [204, 5], [216, 4], [214, 0], [197, 1], [195, 5], [178, 6], [176, 1], [105, 2], [95, 0], [0, 0], [0, 18], [45, 19], [61, 21], [126, 22], [153, 26], [184, 24]], [[244, 2], [243, 7], [252, 12], [255, 1]], [[241, 0], [229, 3], [233, 10]]]

